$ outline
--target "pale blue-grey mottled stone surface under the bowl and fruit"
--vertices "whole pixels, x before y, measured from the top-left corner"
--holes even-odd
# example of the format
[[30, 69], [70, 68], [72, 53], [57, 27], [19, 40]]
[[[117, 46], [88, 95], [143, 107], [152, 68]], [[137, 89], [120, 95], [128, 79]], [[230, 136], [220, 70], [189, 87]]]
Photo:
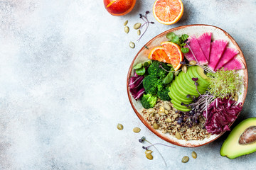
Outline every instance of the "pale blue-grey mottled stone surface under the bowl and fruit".
[[[149, 13], [155, 24], [130, 49], [129, 41], [138, 36], [133, 29], [124, 33], [124, 21], [132, 28], [153, 4], [137, 0], [127, 16], [114, 17], [102, 0], [0, 1], [0, 169], [165, 169], [159, 154], [154, 151], [149, 161], [138, 142], [146, 136], [168, 144], [135, 115], [126, 78], [138, 50], [176, 26], [210, 24], [235, 38], [249, 72], [235, 125], [256, 116], [255, 0], [183, 0], [183, 18], [173, 26]], [[132, 132], [136, 126], [139, 134]], [[158, 149], [167, 169], [255, 169], [256, 153], [233, 160], [220, 156], [227, 135], [194, 149]], [[198, 159], [181, 164], [193, 150]]]

